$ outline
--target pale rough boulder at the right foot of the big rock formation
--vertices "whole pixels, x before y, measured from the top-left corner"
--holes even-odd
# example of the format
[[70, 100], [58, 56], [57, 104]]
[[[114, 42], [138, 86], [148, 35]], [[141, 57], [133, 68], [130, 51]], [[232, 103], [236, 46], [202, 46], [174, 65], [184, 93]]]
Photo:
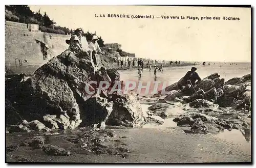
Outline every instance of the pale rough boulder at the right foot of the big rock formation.
[[141, 127], [144, 121], [140, 103], [133, 94], [112, 94], [113, 111], [106, 121], [107, 125]]

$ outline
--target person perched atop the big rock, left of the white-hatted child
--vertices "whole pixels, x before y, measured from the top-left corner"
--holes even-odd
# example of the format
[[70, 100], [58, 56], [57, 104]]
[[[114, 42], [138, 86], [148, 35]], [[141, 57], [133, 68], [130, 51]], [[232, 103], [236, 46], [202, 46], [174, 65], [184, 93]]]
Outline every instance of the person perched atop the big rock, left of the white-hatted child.
[[71, 36], [70, 40], [66, 40], [66, 43], [69, 44], [69, 49], [73, 52], [82, 51], [81, 37], [83, 31], [81, 28], [75, 30], [74, 34]]

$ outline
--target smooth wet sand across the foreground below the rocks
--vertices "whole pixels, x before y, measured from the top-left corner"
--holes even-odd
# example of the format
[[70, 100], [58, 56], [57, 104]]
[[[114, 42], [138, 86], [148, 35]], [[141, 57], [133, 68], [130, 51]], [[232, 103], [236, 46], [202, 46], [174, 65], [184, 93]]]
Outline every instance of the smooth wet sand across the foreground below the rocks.
[[[67, 141], [72, 134], [51, 135], [49, 144], [71, 151], [70, 156], [50, 156], [39, 149], [19, 147], [7, 153], [7, 161], [29, 162], [91, 162], [91, 163], [191, 163], [191, 162], [250, 162], [251, 146], [222, 135], [188, 134], [185, 127], [115, 129], [120, 143], [131, 153], [96, 155], [79, 150]], [[75, 131], [74, 131], [75, 132]], [[232, 131], [231, 131], [232, 132]], [[21, 134], [21, 133], [20, 133]], [[7, 146], [28, 134], [7, 134]], [[236, 134], [236, 133], [235, 133]], [[228, 136], [228, 135], [227, 135]], [[231, 151], [231, 152], [230, 152]]]

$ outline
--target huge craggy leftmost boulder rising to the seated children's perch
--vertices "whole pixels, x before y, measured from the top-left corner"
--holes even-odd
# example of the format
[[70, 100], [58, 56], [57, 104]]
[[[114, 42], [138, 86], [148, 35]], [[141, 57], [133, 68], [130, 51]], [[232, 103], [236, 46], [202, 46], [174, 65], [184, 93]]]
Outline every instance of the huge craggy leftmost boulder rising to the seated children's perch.
[[74, 55], [66, 50], [38, 68], [26, 81], [7, 80], [7, 97], [15, 100], [20, 115], [26, 120], [42, 120], [47, 114], [58, 116], [63, 110], [71, 120], [77, 119], [80, 109], [76, 98], [84, 94], [82, 84], [90, 80], [95, 71], [86, 52]]

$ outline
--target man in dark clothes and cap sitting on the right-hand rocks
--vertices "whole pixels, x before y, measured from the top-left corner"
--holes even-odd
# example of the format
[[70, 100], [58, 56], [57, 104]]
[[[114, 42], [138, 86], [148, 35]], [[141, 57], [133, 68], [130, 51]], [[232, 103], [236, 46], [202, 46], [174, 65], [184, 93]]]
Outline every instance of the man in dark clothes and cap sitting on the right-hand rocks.
[[[198, 75], [198, 73], [196, 72], [196, 70], [197, 70], [196, 67], [192, 67], [191, 71], [188, 71], [183, 77], [183, 79], [180, 82], [178, 82], [178, 88], [180, 90], [183, 89], [183, 86], [187, 86], [187, 85], [192, 85], [195, 88], [196, 81], [199, 82], [202, 80]], [[191, 86], [188, 86], [188, 87], [190, 88]]]

